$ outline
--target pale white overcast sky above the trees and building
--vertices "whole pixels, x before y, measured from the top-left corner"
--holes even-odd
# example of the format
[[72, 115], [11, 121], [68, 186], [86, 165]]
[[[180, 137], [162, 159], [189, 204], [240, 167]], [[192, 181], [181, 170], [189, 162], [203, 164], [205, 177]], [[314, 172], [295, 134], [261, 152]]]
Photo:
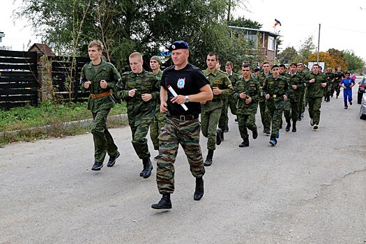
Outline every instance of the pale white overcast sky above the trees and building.
[[[13, 50], [26, 49], [39, 42], [33, 36], [25, 21], [15, 21], [11, 17], [17, 3], [13, 0], [1, 0], [0, 31], [6, 36], [0, 45], [12, 46]], [[290, 1], [290, 0], [247, 0], [248, 10], [237, 8], [234, 15], [244, 16], [263, 24], [264, 31], [274, 31], [275, 19], [282, 26], [276, 26], [276, 32], [282, 36], [282, 49], [293, 46], [296, 49], [309, 36], [314, 36], [314, 45], [318, 45], [319, 24], [321, 24], [320, 51], [329, 48], [352, 49], [357, 56], [366, 61], [366, 1]], [[362, 8], [362, 9], [361, 9]]]

